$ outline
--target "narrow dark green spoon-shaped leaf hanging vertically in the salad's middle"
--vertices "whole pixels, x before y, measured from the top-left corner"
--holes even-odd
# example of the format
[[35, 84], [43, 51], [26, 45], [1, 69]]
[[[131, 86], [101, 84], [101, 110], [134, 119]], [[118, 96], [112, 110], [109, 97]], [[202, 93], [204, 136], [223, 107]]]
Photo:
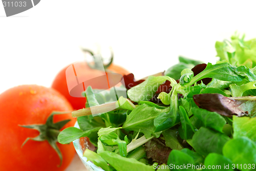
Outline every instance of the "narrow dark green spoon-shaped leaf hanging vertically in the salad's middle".
[[185, 109], [182, 106], [179, 106], [179, 109], [181, 121], [181, 126], [179, 127], [180, 137], [184, 140], [191, 139], [196, 132], [196, 128], [191, 124]]

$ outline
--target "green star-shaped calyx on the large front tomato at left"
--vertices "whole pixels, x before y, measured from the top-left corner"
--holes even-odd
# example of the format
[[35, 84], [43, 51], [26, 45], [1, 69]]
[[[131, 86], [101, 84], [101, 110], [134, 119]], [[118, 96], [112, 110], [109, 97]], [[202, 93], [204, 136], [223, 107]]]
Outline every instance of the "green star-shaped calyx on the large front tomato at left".
[[34, 140], [34, 141], [45, 141], [47, 140], [48, 143], [51, 145], [51, 147], [55, 150], [55, 152], [58, 154], [59, 159], [60, 159], [60, 164], [58, 165], [58, 167], [61, 166], [62, 164], [62, 154], [57, 146], [57, 142], [58, 142], [58, 135], [60, 133], [60, 129], [61, 127], [63, 127], [66, 123], [68, 123], [69, 121], [71, 121], [70, 119], [67, 120], [62, 120], [56, 123], [53, 123], [53, 115], [59, 115], [59, 114], [67, 114], [67, 113], [71, 113], [71, 111], [68, 112], [52, 112], [50, 114], [50, 116], [47, 118], [47, 121], [45, 124], [31, 124], [31, 125], [19, 125], [22, 127], [26, 127], [28, 129], [33, 129], [33, 130], [37, 130], [39, 132], [39, 135], [37, 137], [31, 138], [28, 137], [23, 145], [26, 144], [26, 142], [28, 140]]

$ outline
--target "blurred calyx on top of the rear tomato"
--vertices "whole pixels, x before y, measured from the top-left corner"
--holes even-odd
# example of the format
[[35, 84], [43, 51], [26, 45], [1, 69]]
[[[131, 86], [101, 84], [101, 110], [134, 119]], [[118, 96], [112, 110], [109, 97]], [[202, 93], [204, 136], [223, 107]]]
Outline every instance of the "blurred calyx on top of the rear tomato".
[[[94, 59], [94, 65], [91, 65], [90, 62], [87, 61], [87, 65], [91, 68], [91, 69], [95, 69], [95, 70], [102, 70], [102, 58], [98, 55], [94, 55], [94, 53], [88, 49], [82, 49], [83, 52], [88, 52], [93, 56]], [[112, 62], [113, 62], [113, 58], [114, 58], [114, 53], [111, 50], [111, 58], [110, 58], [110, 62], [107, 63], [106, 65], [103, 65], [104, 70], [108, 71], [108, 68], [111, 66]], [[109, 72], [109, 71], [108, 71]]]

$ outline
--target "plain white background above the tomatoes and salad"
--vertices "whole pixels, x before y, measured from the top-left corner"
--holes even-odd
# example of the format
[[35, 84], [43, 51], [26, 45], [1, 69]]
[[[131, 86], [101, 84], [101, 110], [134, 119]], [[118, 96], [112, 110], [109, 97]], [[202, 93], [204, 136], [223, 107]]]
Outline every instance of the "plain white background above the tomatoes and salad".
[[84, 59], [80, 47], [112, 46], [114, 62], [142, 78], [167, 70], [178, 55], [215, 62], [215, 41], [236, 30], [256, 37], [251, 1], [41, 0], [12, 17], [0, 5], [0, 16], [0, 93], [50, 87], [61, 68]]

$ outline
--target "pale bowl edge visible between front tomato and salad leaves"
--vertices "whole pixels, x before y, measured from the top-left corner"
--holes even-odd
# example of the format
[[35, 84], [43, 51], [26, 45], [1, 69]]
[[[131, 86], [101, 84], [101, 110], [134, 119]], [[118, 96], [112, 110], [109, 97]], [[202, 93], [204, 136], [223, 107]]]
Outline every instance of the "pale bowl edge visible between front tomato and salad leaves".
[[[80, 129], [78, 123], [76, 122], [74, 127], [77, 127], [78, 129]], [[95, 164], [93, 164], [93, 162], [91, 161], [87, 161], [86, 157], [83, 157], [83, 152], [84, 150], [86, 150], [86, 147], [84, 145], [84, 137], [79, 138], [75, 141], [73, 141], [74, 147], [76, 149], [76, 153], [78, 154], [79, 158], [81, 159], [82, 163], [84, 166], [86, 166], [86, 168], [88, 169], [88, 171], [104, 171], [103, 169], [101, 169], [100, 167], [96, 166]]]

